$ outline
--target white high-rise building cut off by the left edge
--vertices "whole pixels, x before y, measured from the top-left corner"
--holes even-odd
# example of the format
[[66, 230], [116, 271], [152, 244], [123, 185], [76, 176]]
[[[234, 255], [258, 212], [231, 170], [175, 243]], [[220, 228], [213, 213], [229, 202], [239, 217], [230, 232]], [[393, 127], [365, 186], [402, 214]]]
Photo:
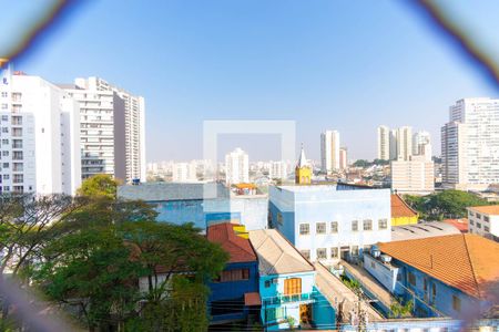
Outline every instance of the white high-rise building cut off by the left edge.
[[81, 184], [79, 111], [58, 86], [2, 70], [0, 193], [75, 193]]

